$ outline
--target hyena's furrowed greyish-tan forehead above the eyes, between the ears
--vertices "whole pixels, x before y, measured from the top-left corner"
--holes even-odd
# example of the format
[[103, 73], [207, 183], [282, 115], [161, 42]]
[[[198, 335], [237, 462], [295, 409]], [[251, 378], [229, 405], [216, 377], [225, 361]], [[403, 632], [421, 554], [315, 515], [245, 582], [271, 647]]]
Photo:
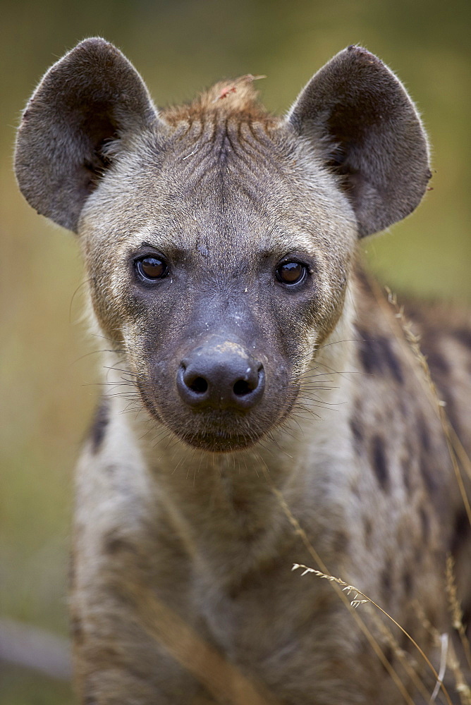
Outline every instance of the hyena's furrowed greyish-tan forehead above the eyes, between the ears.
[[99, 191], [129, 246], [144, 238], [156, 247], [253, 250], [255, 242], [282, 255], [315, 250], [353, 226], [312, 147], [280, 121], [216, 110], [141, 137]]

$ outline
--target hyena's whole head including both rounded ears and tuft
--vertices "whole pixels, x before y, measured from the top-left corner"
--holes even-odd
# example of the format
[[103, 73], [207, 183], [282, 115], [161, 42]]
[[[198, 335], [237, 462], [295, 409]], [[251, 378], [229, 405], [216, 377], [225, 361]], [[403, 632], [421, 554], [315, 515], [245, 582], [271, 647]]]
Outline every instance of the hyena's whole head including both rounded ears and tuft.
[[79, 235], [142, 404], [208, 450], [288, 415], [343, 314], [357, 238], [410, 213], [430, 176], [408, 94], [365, 49], [335, 56], [286, 118], [253, 78], [158, 113], [121, 52], [87, 39], [44, 76], [16, 151], [27, 200]]

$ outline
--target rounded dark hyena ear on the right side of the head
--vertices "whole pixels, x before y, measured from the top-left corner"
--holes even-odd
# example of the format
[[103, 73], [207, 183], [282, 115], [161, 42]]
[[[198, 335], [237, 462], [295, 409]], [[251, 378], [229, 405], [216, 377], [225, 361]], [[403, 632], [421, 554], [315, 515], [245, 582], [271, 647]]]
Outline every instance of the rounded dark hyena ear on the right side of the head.
[[288, 123], [341, 175], [360, 237], [404, 218], [432, 176], [427, 137], [405, 88], [361, 47], [334, 56], [302, 90]]

